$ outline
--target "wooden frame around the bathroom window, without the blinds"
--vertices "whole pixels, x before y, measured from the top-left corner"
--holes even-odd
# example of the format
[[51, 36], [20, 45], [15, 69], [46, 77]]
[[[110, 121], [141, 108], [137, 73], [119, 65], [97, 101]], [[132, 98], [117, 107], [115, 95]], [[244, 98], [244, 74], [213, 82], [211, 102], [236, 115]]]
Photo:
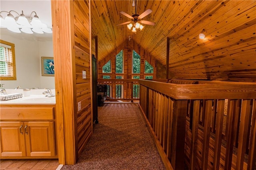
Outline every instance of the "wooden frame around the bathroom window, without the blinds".
[[14, 43], [6, 42], [4, 40], [0, 40], [0, 43], [9, 45], [11, 47], [12, 51], [12, 71], [13, 71], [13, 76], [12, 77], [5, 77], [5, 76], [0, 76], [0, 80], [17, 80], [16, 78], [16, 61], [15, 61], [15, 45]]

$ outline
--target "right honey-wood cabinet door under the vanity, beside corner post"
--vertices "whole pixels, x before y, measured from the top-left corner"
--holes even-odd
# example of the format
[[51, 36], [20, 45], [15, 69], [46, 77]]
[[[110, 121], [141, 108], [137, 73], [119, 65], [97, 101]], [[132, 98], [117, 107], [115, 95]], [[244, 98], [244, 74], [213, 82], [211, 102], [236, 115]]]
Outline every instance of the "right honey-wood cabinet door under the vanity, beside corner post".
[[54, 122], [24, 122], [27, 156], [55, 156]]

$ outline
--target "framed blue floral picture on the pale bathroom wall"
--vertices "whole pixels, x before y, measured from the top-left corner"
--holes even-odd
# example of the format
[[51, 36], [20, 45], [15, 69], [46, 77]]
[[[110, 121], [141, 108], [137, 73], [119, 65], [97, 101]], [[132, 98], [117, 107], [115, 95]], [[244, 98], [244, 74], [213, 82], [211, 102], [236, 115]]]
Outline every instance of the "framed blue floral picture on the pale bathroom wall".
[[41, 57], [42, 76], [54, 76], [53, 57]]

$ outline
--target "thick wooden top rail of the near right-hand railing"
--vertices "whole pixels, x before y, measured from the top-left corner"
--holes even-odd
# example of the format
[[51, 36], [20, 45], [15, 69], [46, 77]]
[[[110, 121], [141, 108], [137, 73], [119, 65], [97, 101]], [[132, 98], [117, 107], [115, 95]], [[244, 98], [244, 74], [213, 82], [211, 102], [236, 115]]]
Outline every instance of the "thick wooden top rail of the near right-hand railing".
[[256, 98], [256, 83], [173, 84], [149, 80], [139, 83], [174, 99], [237, 99], [238, 93], [240, 99]]

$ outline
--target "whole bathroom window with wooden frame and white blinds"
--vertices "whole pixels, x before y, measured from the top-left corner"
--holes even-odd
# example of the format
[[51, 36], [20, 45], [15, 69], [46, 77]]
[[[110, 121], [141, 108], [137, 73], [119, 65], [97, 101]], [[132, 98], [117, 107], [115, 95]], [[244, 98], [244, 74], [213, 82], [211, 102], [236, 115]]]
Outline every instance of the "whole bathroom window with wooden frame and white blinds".
[[0, 40], [0, 79], [16, 80], [14, 44]]

